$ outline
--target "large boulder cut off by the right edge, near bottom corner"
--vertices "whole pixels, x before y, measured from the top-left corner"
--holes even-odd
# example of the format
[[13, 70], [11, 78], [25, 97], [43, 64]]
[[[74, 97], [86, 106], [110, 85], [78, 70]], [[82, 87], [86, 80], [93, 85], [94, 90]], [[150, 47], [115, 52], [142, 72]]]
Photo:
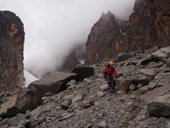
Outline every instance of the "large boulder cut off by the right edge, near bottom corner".
[[147, 105], [150, 115], [157, 117], [170, 117], [170, 94], [158, 97]]

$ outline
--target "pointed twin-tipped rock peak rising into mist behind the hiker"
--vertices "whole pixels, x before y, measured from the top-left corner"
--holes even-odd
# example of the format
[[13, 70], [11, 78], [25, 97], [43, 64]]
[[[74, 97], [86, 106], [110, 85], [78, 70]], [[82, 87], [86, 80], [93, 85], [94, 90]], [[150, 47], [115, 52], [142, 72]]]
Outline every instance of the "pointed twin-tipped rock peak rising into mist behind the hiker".
[[121, 51], [121, 47], [125, 47], [124, 38], [114, 15], [110, 11], [107, 14], [103, 13], [92, 27], [86, 42], [88, 63], [92, 64], [116, 56]]

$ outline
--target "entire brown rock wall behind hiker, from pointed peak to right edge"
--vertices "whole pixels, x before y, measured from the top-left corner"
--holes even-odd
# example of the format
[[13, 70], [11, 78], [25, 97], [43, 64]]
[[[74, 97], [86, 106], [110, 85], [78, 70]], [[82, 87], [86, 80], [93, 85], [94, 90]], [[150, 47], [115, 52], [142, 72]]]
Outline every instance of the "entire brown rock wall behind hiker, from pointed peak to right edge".
[[169, 0], [136, 0], [134, 13], [126, 21], [103, 14], [86, 42], [87, 62], [101, 62], [120, 52], [170, 45]]

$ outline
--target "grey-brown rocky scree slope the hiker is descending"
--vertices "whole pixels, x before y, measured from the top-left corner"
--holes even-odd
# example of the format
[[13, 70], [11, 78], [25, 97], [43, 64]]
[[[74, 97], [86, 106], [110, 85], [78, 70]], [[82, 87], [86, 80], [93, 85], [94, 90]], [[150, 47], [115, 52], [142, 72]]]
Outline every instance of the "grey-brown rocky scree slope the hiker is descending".
[[[67, 90], [43, 96], [41, 106], [26, 114], [1, 119], [0, 126], [169, 127], [170, 47], [131, 52], [113, 60], [117, 61], [115, 68], [119, 74], [115, 93], [109, 93], [103, 78], [104, 65], [108, 63], [105, 61], [92, 65], [93, 76], [82, 82], [70, 81]], [[16, 118], [19, 119], [17, 123]]]

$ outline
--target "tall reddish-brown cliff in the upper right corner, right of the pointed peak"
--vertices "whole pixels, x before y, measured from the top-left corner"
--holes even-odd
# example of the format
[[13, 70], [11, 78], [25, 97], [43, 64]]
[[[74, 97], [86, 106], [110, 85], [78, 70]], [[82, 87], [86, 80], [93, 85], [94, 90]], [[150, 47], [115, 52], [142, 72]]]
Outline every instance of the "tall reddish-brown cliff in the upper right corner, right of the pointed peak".
[[136, 0], [129, 19], [129, 50], [167, 46], [170, 41], [169, 0]]

